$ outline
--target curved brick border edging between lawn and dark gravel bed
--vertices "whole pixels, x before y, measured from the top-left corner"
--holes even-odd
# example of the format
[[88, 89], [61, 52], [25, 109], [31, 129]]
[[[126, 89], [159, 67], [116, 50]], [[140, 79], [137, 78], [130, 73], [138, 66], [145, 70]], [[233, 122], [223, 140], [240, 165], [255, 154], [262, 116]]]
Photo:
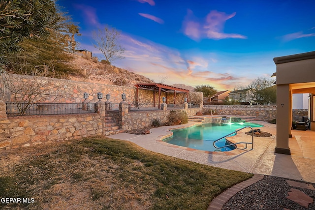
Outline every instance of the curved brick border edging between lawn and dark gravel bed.
[[223, 205], [230, 199], [232, 198], [236, 193], [239, 191], [245, 189], [246, 187], [256, 183], [257, 181], [260, 181], [264, 178], [264, 175], [260, 174], [254, 174], [254, 176], [246, 181], [243, 181], [241, 183], [238, 183], [231, 188], [225, 190], [222, 192], [220, 195], [215, 197], [211, 203], [209, 204], [209, 207], [207, 210], [221, 210]]

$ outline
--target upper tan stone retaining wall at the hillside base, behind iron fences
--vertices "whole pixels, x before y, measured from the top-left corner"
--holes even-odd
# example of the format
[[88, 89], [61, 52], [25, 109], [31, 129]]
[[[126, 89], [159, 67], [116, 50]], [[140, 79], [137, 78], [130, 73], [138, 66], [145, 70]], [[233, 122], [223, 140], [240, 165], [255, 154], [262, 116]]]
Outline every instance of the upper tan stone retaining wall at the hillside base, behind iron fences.
[[[25, 87], [19, 85], [20, 83], [32, 83], [34, 80], [32, 76], [28, 75], [17, 75], [17, 74], [7, 74], [10, 78], [12, 85], [15, 87]], [[3, 88], [3, 84], [5, 78], [2, 74], [0, 74], [0, 100], [7, 102], [15, 102], [14, 96], [9, 94], [9, 91]], [[45, 84], [45, 87], [49, 87], [49, 89], [45, 91], [60, 90], [57, 94], [50, 95], [47, 92], [41, 92], [37, 97], [45, 98], [43, 102], [45, 103], [81, 103], [84, 101], [83, 94], [85, 92], [89, 93], [89, 102], [95, 103], [98, 101], [97, 93], [103, 93], [103, 100], [106, 100], [106, 94], [110, 94], [110, 101], [113, 103], [119, 103], [122, 101], [122, 93], [126, 94], [126, 101], [128, 103], [133, 103], [136, 101], [136, 88], [135, 87], [125, 87], [125, 86], [116, 86], [116, 85], [106, 85], [106, 84], [98, 84], [98, 83], [89, 83], [89, 82], [79, 82], [79, 81], [71, 81], [71, 80], [63, 80], [63, 79], [54, 79], [54, 78], [46, 78], [46, 77], [37, 77], [36, 83]], [[10, 84], [10, 83], [9, 83]], [[8, 84], [8, 85], [9, 85]], [[59, 85], [56, 85], [59, 84]], [[62, 86], [62, 87], [60, 87]], [[138, 101], [140, 103], [153, 103], [154, 102], [154, 91], [153, 90], [145, 90], [138, 89]], [[47, 94], [50, 95], [47, 97]], [[168, 103], [174, 103], [174, 92], [168, 92], [167, 94]], [[162, 103], [162, 97], [165, 96], [165, 92], [161, 92], [160, 102]], [[184, 98], [186, 97], [186, 93], [176, 92], [176, 103], [184, 103]], [[189, 101], [193, 100], [194, 103], [200, 102], [202, 103], [203, 98], [202, 92], [189, 92]], [[21, 98], [21, 95], [18, 96]], [[156, 103], [158, 103], [158, 91], [156, 91]]]

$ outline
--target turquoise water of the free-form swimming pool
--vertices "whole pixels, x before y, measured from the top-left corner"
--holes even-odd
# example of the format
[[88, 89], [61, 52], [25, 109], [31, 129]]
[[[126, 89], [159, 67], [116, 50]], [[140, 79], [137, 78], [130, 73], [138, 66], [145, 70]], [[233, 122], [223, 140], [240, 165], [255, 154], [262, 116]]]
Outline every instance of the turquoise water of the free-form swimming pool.
[[[196, 150], [205, 150], [205, 151], [229, 151], [234, 150], [235, 147], [230, 146], [222, 149], [216, 149], [213, 146], [213, 142], [221, 137], [232, 133], [236, 129], [251, 126], [251, 127], [261, 127], [262, 125], [250, 123], [250, 122], [233, 122], [233, 123], [203, 123], [200, 125], [195, 125], [192, 127], [172, 130], [173, 136], [167, 139], [164, 139], [164, 142], [188, 147]], [[245, 128], [245, 131], [249, 131], [250, 128]], [[235, 135], [232, 134], [231, 136]], [[227, 143], [229, 144], [229, 143]], [[227, 145], [225, 138], [216, 142], [217, 147], [222, 147]]]

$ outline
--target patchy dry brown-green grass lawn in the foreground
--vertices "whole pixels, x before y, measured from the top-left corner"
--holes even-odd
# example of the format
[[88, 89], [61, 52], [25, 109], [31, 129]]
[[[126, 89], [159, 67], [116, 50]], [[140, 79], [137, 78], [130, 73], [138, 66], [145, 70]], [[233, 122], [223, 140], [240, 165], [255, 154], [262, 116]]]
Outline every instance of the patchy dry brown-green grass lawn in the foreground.
[[88, 138], [0, 152], [0, 209], [206, 210], [252, 174], [189, 162], [133, 143]]

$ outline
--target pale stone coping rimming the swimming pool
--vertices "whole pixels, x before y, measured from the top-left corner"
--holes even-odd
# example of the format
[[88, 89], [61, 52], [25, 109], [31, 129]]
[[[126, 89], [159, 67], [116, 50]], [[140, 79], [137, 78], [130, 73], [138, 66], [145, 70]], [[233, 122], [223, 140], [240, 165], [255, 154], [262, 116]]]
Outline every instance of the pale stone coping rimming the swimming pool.
[[[191, 121], [190, 121], [191, 122]], [[251, 121], [246, 121], [246, 122], [251, 122]], [[171, 148], [178, 148], [181, 150], [187, 150], [187, 151], [192, 151], [195, 153], [205, 153], [205, 154], [217, 154], [217, 155], [238, 155], [241, 154], [243, 152], [246, 152], [248, 150], [251, 150], [249, 148], [245, 148], [245, 144], [238, 144], [236, 146], [236, 148], [234, 150], [229, 150], [229, 151], [206, 151], [206, 150], [197, 150], [197, 149], [192, 149], [192, 148], [188, 148], [188, 147], [183, 147], [183, 146], [178, 146], [178, 145], [174, 145], [174, 144], [170, 144], [167, 142], [164, 142], [163, 140], [173, 136], [173, 132], [171, 130], [178, 130], [178, 129], [185, 129], [185, 128], [189, 128], [198, 124], [203, 124], [203, 123], [209, 123], [209, 122], [193, 122], [191, 124], [182, 124], [182, 125], [176, 125], [176, 127], [172, 126], [171, 128], [169, 126], [165, 126], [165, 129], [163, 129], [164, 131], [167, 132], [166, 135], [160, 135], [158, 136], [158, 140], [157, 143], [162, 144], [164, 146], [167, 147], [171, 147]], [[251, 122], [251, 123], [255, 123], [255, 122]], [[255, 124], [259, 124], [259, 123], [255, 123]], [[263, 124], [259, 124], [262, 125], [262, 127], [266, 127], [266, 125]], [[246, 135], [246, 136], [244, 136]], [[240, 130], [236, 133], [236, 135], [234, 136], [230, 136], [230, 137], [226, 137], [226, 140], [228, 140], [229, 142], [231, 142], [232, 144], [237, 143], [239, 141], [236, 141], [236, 139], [239, 139], [240, 137], [247, 137], [249, 136], [250, 138], [252, 136], [245, 134], [244, 130]], [[264, 137], [255, 137], [255, 138], [264, 138]], [[240, 147], [238, 147], [240, 146]], [[242, 148], [241, 148], [242, 147]]]

